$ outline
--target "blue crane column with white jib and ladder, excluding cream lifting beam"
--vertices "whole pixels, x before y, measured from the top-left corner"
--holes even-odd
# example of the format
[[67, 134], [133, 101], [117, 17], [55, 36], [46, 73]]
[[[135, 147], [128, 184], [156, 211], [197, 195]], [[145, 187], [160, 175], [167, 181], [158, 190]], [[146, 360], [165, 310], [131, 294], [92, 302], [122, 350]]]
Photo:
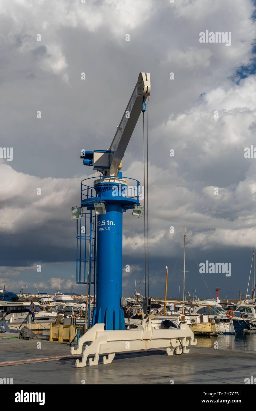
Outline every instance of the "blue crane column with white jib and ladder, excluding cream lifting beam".
[[[122, 120], [108, 150], [81, 150], [83, 164], [101, 173], [81, 182], [82, 214], [76, 229], [76, 283], [87, 284], [94, 308], [92, 325], [125, 329], [122, 297], [122, 214], [133, 209], [141, 217], [140, 183], [122, 176], [122, 157], [150, 95], [150, 74], [140, 73]], [[90, 183], [91, 181], [91, 183]], [[131, 184], [129, 183], [131, 181]], [[79, 208], [76, 208], [79, 211]], [[84, 211], [86, 210], [86, 211]], [[79, 212], [78, 212], [79, 214]], [[97, 257], [96, 257], [97, 256]], [[90, 326], [90, 318], [88, 318]]]

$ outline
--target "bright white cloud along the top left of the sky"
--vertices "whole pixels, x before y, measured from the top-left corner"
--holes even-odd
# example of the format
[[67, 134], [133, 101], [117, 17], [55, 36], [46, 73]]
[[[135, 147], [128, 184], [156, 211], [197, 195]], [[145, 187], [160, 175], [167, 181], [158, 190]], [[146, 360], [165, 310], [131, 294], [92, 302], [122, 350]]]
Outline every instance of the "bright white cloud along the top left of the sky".
[[[124, 30], [134, 30], [144, 23], [154, 11], [152, 0], [107, 0], [81, 3], [73, 0], [40, 0], [35, 5], [31, 0], [3, 0], [0, 5], [0, 18], [8, 21], [2, 26], [2, 35], [11, 44], [21, 42], [19, 52], [28, 57], [35, 53], [38, 67], [60, 75], [69, 83], [68, 62], [65, 44], [60, 32], [63, 28], [77, 28], [81, 35], [95, 32], [106, 26], [115, 36]], [[42, 37], [37, 41], [37, 35]], [[41, 49], [40, 49], [41, 47]]]

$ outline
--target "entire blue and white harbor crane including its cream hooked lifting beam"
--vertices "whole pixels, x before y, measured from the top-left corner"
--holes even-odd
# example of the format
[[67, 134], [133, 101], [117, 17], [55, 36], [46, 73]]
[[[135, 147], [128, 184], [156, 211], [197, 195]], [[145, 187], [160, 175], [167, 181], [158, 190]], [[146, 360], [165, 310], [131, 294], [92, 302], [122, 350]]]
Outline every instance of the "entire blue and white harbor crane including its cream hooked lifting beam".
[[[98, 365], [100, 355], [103, 355], [103, 364], [110, 364], [115, 353], [127, 351], [166, 349], [168, 356], [189, 353], [188, 345], [196, 344], [193, 331], [183, 321], [178, 328], [155, 329], [148, 315], [151, 308], [151, 299], [148, 297], [143, 301], [143, 311], [147, 315], [137, 329], [125, 329], [124, 311], [121, 308], [122, 213], [133, 209], [132, 214], [141, 217], [143, 206], [139, 203], [139, 182], [132, 179], [136, 181], [136, 193], [132, 195], [134, 193], [129, 193], [128, 178], [123, 177], [120, 170], [122, 157], [141, 111], [146, 110], [149, 95], [150, 74], [140, 73], [110, 148], [81, 151], [83, 164], [100, 171], [101, 176], [90, 177], [93, 185], [89, 185], [88, 179], [81, 182], [81, 208], [72, 209], [72, 218], [77, 220], [76, 282], [87, 284], [85, 323], [88, 328], [92, 325], [78, 339], [77, 348], [71, 347], [71, 354], [75, 356], [81, 354], [84, 348], [81, 360], [76, 360], [76, 367], [85, 367], [87, 360], [88, 365]], [[87, 212], [81, 213], [83, 208]], [[82, 220], [85, 221], [85, 227]], [[87, 220], [89, 224], [86, 224]], [[89, 297], [92, 298], [91, 292], [95, 294], [95, 285], [96, 306], [94, 298], [91, 324]]]

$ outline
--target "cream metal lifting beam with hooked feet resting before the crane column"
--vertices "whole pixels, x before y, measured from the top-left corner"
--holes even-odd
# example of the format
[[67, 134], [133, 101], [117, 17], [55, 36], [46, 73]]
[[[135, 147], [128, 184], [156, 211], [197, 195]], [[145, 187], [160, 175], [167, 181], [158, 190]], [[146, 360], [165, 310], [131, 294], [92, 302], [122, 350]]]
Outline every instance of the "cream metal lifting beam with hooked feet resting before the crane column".
[[100, 354], [105, 354], [103, 364], [110, 364], [115, 353], [165, 348], [171, 356], [175, 349], [177, 354], [189, 353], [187, 346], [196, 345], [194, 333], [186, 323], [181, 323], [177, 329], [156, 330], [150, 319], [144, 319], [138, 328], [131, 330], [104, 330], [104, 324], [95, 324], [79, 338], [78, 346], [71, 348], [71, 354], [81, 354], [85, 342], [91, 344], [85, 345], [82, 360], [76, 360], [76, 367], [85, 367], [90, 355], [94, 358], [89, 358], [88, 365], [98, 365]]

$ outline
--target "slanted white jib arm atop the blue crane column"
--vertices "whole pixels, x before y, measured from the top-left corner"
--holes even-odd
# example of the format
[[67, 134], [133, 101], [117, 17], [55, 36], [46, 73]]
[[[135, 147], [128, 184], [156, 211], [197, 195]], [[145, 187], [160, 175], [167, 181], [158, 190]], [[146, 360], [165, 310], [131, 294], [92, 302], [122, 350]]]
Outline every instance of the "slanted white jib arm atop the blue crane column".
[[150, 73], [140, 73], [137, 84], [131, 95], [125, 113], [118, 126], [117, 132], [109, 147], [109, 173], [117, 175], [122, 157], [130, 141], [141, 111], [143, 102], [150, 95]]

